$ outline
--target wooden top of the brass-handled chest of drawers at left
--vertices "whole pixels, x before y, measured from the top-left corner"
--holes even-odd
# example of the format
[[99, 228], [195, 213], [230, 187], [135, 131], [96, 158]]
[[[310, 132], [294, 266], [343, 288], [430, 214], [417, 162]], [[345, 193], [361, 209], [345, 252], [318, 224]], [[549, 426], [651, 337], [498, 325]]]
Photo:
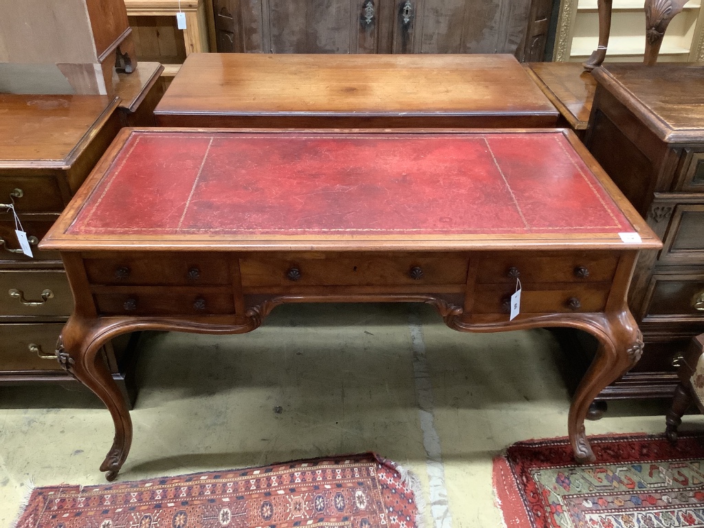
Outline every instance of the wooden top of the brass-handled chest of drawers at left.
[[118, 98], [0, 94], [0, 168], [68, 168]]

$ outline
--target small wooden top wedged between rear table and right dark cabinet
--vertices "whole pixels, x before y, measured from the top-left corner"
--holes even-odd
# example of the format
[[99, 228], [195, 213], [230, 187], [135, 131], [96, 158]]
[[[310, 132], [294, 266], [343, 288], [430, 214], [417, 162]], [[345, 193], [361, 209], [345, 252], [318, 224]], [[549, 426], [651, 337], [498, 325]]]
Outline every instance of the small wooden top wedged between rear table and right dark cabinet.
[[586, 130], [596, 80], [582, 63], [529, 63], [524, 65], [551, 103], [574, 130]]

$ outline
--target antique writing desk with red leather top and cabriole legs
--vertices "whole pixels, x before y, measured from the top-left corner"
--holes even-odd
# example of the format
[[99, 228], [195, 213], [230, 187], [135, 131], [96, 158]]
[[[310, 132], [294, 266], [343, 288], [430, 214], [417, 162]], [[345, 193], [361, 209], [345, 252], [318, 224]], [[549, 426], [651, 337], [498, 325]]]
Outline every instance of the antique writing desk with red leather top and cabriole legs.
[[[640, 234], [624, 243], [620, 234]], [[660, 241], [570, 131], [123, 129], [40, 244], [75, 311], [57, 356], [106, 404], [115, 478], [132, 422], [96, 353], [138, 329], [238, 334], [303, 302], [422, 302], [463, 332], [577, 327], [599, 341], [568, 430], [634, 365], [626, 304]], [[508, 298], [522, 283], [520, 315]]]

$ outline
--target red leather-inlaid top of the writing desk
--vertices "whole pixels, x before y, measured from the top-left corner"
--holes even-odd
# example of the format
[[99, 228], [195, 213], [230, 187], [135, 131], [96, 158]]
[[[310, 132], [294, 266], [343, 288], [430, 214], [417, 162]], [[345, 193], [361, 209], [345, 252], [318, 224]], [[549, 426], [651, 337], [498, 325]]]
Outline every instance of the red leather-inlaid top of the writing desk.
[[558, 249], [622, 232], [660, 246], [571, 132], [123, 129], [40, 247]]

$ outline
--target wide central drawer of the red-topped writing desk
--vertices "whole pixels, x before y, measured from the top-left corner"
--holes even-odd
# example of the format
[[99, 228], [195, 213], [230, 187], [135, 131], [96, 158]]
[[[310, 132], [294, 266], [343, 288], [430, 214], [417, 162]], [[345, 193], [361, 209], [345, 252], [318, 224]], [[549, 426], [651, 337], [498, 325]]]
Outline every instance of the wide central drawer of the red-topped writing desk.
[[242, 286], [465, 284], [468, 258], [438, 253], [253, 256], [239, 260]]

